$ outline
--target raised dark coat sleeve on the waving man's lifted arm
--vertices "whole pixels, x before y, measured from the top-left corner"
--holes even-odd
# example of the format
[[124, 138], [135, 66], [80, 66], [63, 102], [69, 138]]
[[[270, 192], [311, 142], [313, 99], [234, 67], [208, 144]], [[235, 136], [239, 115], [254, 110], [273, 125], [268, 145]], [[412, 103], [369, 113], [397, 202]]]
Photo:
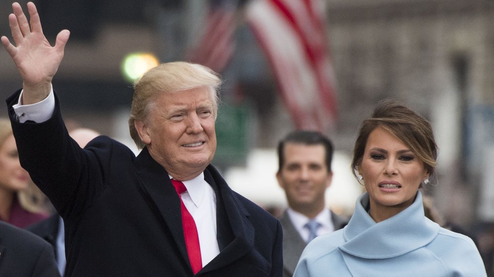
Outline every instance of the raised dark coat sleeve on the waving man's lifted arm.
[[20, 123], [12, 108], [19, 93], [7, 99], [7, 105], [21, 166], [62, 217], [75, 216], [89, 207], [102, 189], [105, 161], [95, 152], [83, 150], [69, 136], [56, 94], [50, 119]]

